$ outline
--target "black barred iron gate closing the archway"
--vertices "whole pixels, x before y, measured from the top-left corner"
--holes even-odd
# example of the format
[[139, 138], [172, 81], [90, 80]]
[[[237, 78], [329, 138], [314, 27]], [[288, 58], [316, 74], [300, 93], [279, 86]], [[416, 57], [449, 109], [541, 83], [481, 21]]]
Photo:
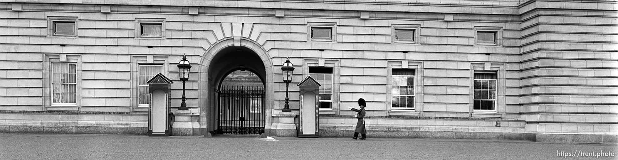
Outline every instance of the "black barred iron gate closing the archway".
[[264, 87], [221, 86], [218, 134], [264, 133]]

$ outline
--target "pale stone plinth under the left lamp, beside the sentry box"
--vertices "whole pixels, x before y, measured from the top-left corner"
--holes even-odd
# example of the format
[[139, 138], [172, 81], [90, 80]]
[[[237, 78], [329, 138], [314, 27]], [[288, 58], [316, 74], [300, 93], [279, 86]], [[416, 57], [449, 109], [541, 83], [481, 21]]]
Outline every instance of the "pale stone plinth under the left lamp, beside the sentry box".
[[176, 110], [172, 111], [172, 114], [174, 114], [172, 136], [201, 135], [200, 122], [198, 122], [199, 112]]

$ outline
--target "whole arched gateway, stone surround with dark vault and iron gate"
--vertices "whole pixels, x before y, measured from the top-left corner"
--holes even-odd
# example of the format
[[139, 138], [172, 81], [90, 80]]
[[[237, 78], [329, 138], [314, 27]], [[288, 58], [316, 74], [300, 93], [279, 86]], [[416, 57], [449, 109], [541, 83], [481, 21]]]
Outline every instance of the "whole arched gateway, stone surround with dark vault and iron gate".
[[[269, 78], [273, 64], [265, 49], [252, 40], [227, 38], [208, 48], [200, 64], [202, 133], [268, 133], [274, 82]], [[235, 70], [255, 73], [263, 88], [222, 87], [224, 78]], [[260, 103], [260, 108], [247, 109], [251, 101]]]

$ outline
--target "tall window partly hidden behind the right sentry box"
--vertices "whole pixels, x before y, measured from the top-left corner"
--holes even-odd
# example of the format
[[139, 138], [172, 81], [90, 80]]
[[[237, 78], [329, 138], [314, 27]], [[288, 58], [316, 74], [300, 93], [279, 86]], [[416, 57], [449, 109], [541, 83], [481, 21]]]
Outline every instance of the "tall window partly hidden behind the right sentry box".
[[309, 67], [309, 75], [318, 81], [320, 86], [320, 108], [332, 107], [332, 68]]

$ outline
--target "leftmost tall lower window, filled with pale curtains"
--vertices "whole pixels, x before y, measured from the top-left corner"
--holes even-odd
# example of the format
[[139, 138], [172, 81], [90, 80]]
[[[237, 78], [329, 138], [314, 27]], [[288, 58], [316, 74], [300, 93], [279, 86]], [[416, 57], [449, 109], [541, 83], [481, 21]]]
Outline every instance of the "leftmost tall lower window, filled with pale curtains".
[[58, 106], [76, 105], [76, 64], [52, 63], [51, 64], [51, 104]]

